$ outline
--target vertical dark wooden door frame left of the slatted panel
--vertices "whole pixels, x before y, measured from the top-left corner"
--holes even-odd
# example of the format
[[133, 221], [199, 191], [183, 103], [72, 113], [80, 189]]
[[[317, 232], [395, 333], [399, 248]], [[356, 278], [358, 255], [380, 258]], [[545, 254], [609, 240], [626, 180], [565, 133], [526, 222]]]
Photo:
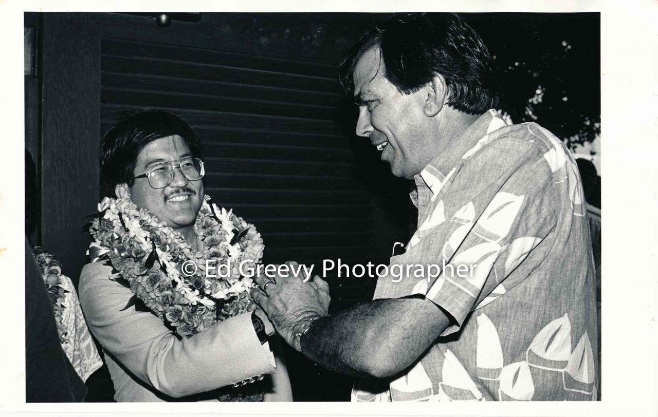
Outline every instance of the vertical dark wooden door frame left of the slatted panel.
[[99, 195], [101, 34], [89, 13], [43, 13], [41, 245], [78, 282]]

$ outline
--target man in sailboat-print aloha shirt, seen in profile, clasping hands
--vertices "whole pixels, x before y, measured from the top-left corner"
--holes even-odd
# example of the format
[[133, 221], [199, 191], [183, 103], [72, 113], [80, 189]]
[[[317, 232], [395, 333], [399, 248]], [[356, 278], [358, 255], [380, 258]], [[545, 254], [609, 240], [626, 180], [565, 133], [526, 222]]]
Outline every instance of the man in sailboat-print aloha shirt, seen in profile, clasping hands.
[[332, 316], [319, 278], [257, 280], [257, 303], [291, 346], [359, 378], [353, 401], [597, 399], [578, 170], [550, 132], [491, 110], [489, 62], [445, 14], [396, 18], [343, 62], [356, 133], [417, 188], [417, 231], [391, 264], [449, 265], [438, 278], [382, 276], [373, 301]]

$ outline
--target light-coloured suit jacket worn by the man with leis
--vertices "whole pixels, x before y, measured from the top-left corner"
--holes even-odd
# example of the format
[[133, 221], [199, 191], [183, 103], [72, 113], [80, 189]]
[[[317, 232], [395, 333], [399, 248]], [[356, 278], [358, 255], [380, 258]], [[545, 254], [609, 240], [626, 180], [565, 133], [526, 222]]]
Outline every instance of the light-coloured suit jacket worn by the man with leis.
[[251, 314], [178, 340], [154, 314], [122, 310], [133, 294], [109, 279], [111, 271], [101, 262], [87, 264], [79, 292], [89, 329], [103, 346], [116, 401], [186, 401], [182, 397], [274, 372], [266, 377], [272, 378], [272, 391], [265, 401], [292, 401], [285, 365], [277, 360], [275, 371]]

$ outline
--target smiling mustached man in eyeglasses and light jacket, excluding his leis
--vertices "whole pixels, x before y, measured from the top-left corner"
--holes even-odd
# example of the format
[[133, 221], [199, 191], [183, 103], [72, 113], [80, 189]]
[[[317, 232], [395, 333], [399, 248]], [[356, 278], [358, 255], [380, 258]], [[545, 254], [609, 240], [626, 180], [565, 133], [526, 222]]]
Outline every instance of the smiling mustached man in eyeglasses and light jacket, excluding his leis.
[[[103, 137], [103, 193], [131, 199], [180, 233], [192, 251], [201, 251], [194, 229], [204, 195], [200, 153], [199, 139], [174, 114], [130, 112]], [[262, 310], [178, 339], [151, 312], [126, 308], [133, 294], [109, 278], [114, 272], [102, 262], [86, 265], [80, 303], [103, 346], [116, 401], [291, 401], [284, 364], [277, 358], [275, 366], [265, 343], [274, 330]], [[241, 395], [227, 386], [265, 374], [273, 375], [264, 395]]]

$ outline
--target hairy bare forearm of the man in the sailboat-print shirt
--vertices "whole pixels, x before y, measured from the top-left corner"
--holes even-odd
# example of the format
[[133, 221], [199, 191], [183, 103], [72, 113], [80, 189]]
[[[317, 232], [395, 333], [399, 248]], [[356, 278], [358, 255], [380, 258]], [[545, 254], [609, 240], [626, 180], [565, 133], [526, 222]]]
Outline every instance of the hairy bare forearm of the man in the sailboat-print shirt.
[[413, 364], [448, 325], [431, 301], [374, 300], [313, 322], [301, 351], [334, 372], [384, 378]]

